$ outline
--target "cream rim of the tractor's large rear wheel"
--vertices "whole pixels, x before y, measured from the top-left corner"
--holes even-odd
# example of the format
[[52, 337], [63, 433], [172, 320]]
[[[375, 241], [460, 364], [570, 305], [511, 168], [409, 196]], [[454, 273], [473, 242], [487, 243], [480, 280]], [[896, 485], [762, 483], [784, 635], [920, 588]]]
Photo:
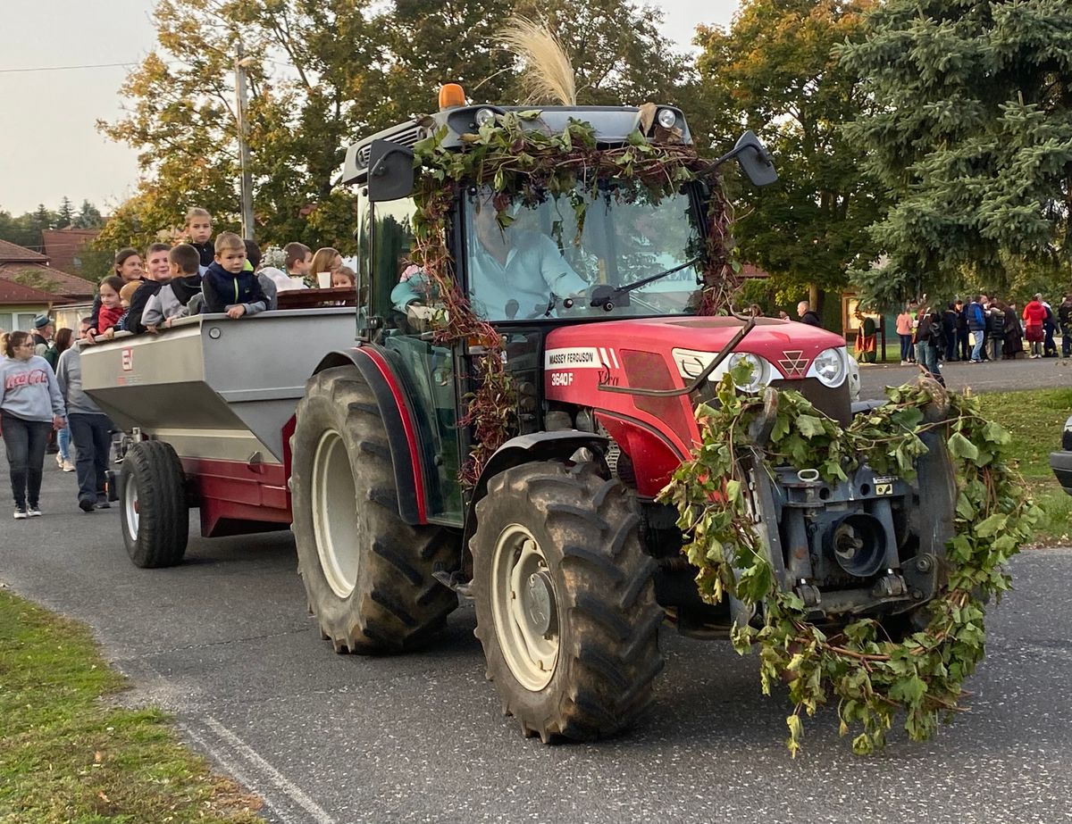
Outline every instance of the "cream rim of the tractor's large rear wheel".
[[354, 591], [360, 566], [354, 471], [342, 436], [325, 432], [313, 458], [313, 533], [328, 586], [340, 598]]

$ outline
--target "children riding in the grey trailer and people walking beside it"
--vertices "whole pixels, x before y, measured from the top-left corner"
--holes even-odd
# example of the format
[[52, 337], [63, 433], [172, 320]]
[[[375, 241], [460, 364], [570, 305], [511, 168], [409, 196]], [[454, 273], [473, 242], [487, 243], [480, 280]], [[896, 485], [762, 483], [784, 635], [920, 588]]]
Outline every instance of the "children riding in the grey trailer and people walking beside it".
[[314, 254], [293, 242], [267, 250], [262, 259], [252, 240], [227, 231], [213, 239], [212, 218], [198, 208], [188, 212], [184, 235], [174, 245], [150, 244], [145, 255], [121, 250], [77, 332], [56, 331], [47, 315], [34, 319], [32, 332], [0, 330], [0, 430], [16, 520], [42, 514], [48, 451], [61, 470], [76, 474], [83, 511], [109, 506], [106, 471], [116, 428], [81, 390], [80, 346], [119, 331], [154, 334], [199, 313], [254, 315], [276, 309], [281, 291], [354, 287], [354, 272], [334, 249]]

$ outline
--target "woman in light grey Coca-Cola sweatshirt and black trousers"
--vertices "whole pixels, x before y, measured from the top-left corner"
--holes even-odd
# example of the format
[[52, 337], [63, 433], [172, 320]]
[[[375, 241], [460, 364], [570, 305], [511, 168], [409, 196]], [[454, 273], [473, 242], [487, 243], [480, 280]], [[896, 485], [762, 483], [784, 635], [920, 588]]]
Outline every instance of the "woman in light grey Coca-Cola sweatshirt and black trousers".
[[28, 332], [12, 332], [0, 360], [0, 426], [11, 466], [15, 519], [41, 514], [41, 478], [48, 433], [66, 425], [63, 398], [48, 361], [33, 354]]

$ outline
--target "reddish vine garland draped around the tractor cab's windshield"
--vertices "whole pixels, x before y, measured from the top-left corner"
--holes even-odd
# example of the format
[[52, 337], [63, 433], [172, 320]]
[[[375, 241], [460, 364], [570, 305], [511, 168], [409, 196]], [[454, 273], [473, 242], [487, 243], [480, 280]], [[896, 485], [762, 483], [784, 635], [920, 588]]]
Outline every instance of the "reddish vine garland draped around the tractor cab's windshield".
[[[490, 188], [498, 223], [505, 228], [511, 221], [506, 212], [511, 203], [544, 203], [552, 195], [575, 193], [579, 185], [594, 197], [600, 181], [614, 179], [643, 188], [651, 201], [658, 203], [684, 183], [703, 181], [711, 197], [700, 314], [727, 308], [740, 285], [740, 267], [729, 251], [730, 210], [711, 160], [700, 158], [690, 146], [673, 143], [667, 132], [657, 133], [655, 140], [635, 132], [623, 146], [599, 148], [591, 124], [572, 120], [562, 133], [550, 133], [536, 128], [539, 117], [539, 110], [496, 116], [477, 134], [463, 136], [464, 151], [444, 146], [446, 126], [414, 147], [417, 211], [412, 255], [440, 296], [434, 340], [441, 345], [467, 341], [471, 353], [481, 353], [474, 359], [477, 389], [467, 399], [468, 408], [460, 421], [474, 430], [474, 447], [460, 473], [467, 488], [509, 437], [516, 403], [502, 336], [473, 311], [453, 276], [446, 239], [452, 205], [464, 188]], [[571, 197], [571, 203], [580, 231], [585, 203], [581, 197]]]

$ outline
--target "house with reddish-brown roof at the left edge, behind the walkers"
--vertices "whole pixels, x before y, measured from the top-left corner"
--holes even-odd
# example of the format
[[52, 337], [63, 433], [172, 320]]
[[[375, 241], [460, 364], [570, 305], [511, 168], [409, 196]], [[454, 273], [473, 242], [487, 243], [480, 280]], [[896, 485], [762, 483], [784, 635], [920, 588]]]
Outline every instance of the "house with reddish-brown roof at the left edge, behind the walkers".
[[48, 255], [0, 240], [0, 329], [29, 330], [36, 315], [92, 299], [92, 282], [50, 263]]

